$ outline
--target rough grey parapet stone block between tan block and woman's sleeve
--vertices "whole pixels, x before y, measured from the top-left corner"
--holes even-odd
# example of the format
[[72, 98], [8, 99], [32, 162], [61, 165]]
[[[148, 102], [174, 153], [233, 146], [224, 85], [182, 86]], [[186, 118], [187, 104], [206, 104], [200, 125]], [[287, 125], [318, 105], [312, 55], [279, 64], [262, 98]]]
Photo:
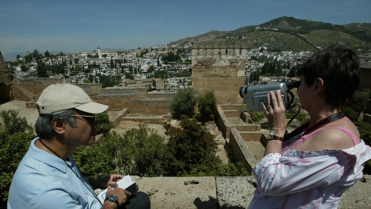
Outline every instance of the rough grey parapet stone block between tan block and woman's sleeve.
[[254, 176], [216, 177], [218, 208], [247, 208], [253, 199]]

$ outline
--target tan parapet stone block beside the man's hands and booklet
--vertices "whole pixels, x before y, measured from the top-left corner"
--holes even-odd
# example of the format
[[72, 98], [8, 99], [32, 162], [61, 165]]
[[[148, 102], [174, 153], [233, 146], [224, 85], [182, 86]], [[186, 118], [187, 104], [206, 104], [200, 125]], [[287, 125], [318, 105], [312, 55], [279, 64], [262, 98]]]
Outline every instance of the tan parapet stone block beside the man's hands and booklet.
[[152, 208], [217, 209], [215, 177], [142, 177], [133, 179], [150, 195]]

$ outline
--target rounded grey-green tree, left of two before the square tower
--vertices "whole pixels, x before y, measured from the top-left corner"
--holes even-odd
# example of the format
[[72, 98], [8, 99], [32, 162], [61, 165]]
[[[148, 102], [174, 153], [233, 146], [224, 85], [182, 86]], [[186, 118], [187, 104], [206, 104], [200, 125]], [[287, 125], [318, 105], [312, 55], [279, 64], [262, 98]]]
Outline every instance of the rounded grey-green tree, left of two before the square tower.
[[194, 115], [194, 107], [197, 105], [196, 90], [193, 88], [180, 89], [170, 102], [170, 110], [177, 115]]

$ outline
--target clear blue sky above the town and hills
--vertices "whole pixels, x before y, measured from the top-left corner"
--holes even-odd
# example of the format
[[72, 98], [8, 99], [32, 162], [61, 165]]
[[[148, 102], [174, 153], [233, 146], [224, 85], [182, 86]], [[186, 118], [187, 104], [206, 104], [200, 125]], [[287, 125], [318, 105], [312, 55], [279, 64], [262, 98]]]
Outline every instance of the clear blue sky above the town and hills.
[[168, 44], [282, 16], [371, 23], [370, 0], [1, 0], [0, 51], [89, 51]]

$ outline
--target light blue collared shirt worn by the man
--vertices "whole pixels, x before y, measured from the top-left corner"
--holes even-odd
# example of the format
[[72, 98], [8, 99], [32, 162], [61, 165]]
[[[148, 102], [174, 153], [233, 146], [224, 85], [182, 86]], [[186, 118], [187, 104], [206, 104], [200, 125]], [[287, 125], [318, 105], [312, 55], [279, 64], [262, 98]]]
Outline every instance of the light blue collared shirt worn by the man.
[[86, 188], [91, 187], [72, 158], [68, 156], [66, 162], [79, 177], [65, 161], [35, 147], [37, 139], [39, 138], [32, 140], [14, 174], [9, 190], [8, 209], [101, 208], [101, 203]]

